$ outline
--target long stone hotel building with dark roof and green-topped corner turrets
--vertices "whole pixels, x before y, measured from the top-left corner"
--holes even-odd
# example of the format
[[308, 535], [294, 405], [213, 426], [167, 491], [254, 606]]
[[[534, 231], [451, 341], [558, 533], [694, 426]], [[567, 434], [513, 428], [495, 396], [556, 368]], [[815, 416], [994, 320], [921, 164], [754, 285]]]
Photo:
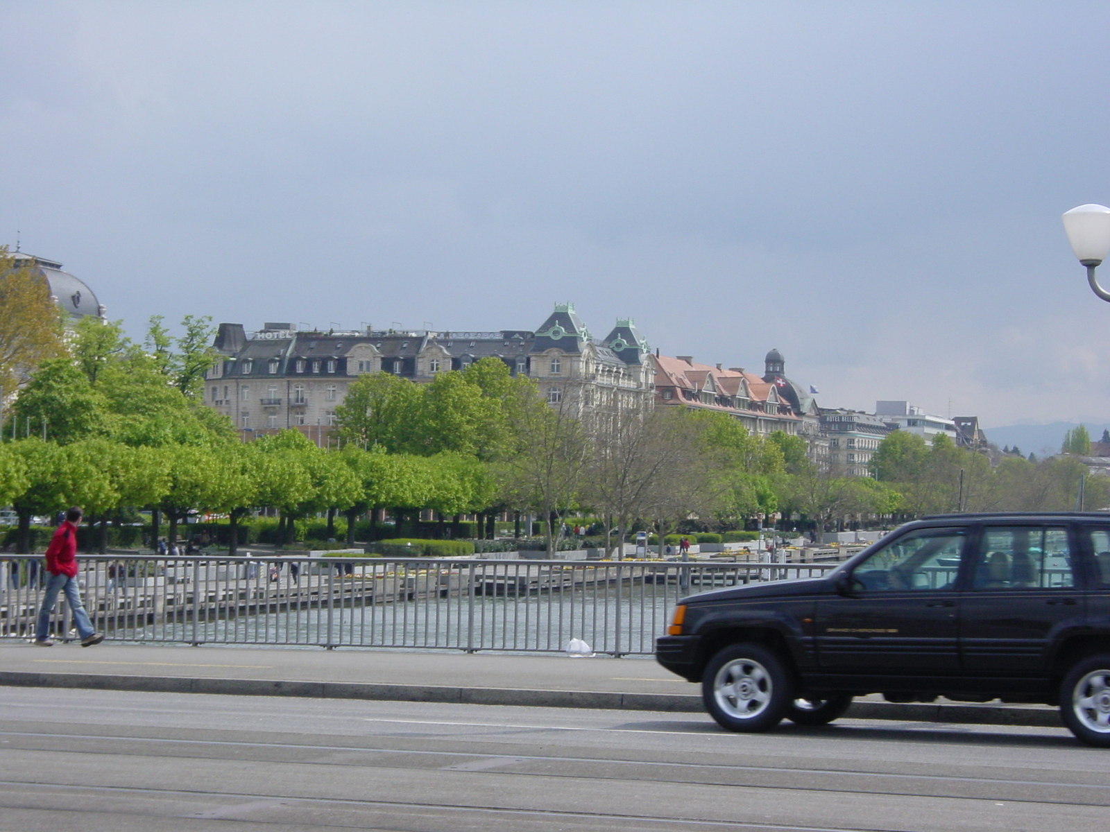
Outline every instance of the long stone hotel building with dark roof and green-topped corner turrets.
[[293, 427], [322, 444], [359, 376], [431, 382], [487, 357], [535, 378], [549, 403], [578, 416], [652, 404], [647, 342], [633, 322], [617, 321], [605, 338], [594, 338], [571, 304], [557, 304], [536, 331], [303, 332], [270, 323], [248, 333], [242, 324], [220, 324], [212, 346], [220, 358], [205, 376], [204, 400], [246, 437]]

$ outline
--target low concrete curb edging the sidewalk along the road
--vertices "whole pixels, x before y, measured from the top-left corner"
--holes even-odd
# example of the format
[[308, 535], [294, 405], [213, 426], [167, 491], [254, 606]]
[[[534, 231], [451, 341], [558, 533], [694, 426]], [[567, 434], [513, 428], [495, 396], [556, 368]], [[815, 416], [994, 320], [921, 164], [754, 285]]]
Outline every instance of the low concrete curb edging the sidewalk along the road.
[[[314, 699], [367, 699], [402, 702], [453, 702], [460, 704], [508, 704], [533, 708], [593, 708], [601, 710], [673, 711], [697, 713], [702, 697], [684, 693], [617, 693], [527, 688], [457, 688], [435, 684], [387, 682], [276, 681], [271, 679], [221, 679], [184, 676], [127, 676], [117, 673], [40, 673], [0, 671], [0, 686], [19, 688], [85, 688], [137, 690], [158, 693], [219, 693], [236, 697], [311, 697]], [[1031, 726], [1062, 728], [1059, 711], [1041, 707], [991, 704], [926, 704], [852, 702], [848, 719], [949, 722], [981, 726]]]

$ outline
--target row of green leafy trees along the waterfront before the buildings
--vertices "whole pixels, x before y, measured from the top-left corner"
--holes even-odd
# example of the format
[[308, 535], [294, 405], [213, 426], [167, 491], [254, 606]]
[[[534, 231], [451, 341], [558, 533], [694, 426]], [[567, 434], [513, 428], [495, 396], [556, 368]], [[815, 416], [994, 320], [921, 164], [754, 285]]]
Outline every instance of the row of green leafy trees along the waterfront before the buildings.
[[[8, 298], [24, 297], [12, 274], [0, 284], [0, 323], [18, 317]], [[584, 412], [573, 386], [553, 406], [533, 381], [492, 358], [423, 385], [384, 373], [360, 377], [336, 409], [334, 447], [319, 448], [295, 430], [243, 444], [201, 402], [213, 359], [206, 318], [186, 317], [176, 337], [152, 318], [144, 343], [135, 344], [119, 323], [94, 318], [62, 338], [56, 313], [32, 312], [37, 323], [28, 326], [38, 341], [6, 347], [0, 327], [0, 375], [31, 374], [0, 426], [0, 505], [19, 513], [21, 550], [33, 515], [70, 504], [84, 506], [102, 532], [123, 509], [149, 507], [164, 515], [171, 535], [194, 510], [228, 515], [234, 525], [255, 509], [274, 509], [289, 540], [296, 518], [319, 513], [345, 514], [350, 536], [354, 520], [376, 508], [487, 520], [515, 510], [548, 520], [554, 551], [573, 513], [599, 516], [607, 546], [615, 546], [634, 527], [650, 526], [662, 538], [692, 518], [736, 528], [781, 513], [825, 527], [942, 511], [1064, 509], [1073, 507], [1084, 470], [1073, 458], [1006, 457], [992, 467], [945, 437], [927, 445], [899, 432], [876, 453], [874, 479], [845, 477], [813, 465], [803, 439], [751, 435], [724, 414]], [[1069, 437], [1077, 447], [1084, 440], [1086, 432]], [[1089, 507], [1110, 504], [1108, 485], [1087, 484]]]

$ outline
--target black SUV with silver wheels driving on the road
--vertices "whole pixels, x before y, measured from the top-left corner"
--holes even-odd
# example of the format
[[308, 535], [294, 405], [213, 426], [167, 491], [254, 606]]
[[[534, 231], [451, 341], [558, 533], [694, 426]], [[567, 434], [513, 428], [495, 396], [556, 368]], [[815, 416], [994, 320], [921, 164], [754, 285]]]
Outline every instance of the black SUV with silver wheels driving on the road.
[[1110, 748], [1110, 514], [926, 517], [823, 578], [685, 598], [668, 632], [656, 659], [733, 731], [879, 692], [1059, 704]]

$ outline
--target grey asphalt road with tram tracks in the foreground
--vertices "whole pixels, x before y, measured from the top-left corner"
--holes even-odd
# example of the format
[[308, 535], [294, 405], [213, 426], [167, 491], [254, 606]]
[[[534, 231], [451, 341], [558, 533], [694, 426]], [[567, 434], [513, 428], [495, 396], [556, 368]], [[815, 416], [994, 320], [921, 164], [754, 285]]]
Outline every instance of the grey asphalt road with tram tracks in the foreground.
[[0, 832], [1068, 830], [1063, 729], [0, 688]]

